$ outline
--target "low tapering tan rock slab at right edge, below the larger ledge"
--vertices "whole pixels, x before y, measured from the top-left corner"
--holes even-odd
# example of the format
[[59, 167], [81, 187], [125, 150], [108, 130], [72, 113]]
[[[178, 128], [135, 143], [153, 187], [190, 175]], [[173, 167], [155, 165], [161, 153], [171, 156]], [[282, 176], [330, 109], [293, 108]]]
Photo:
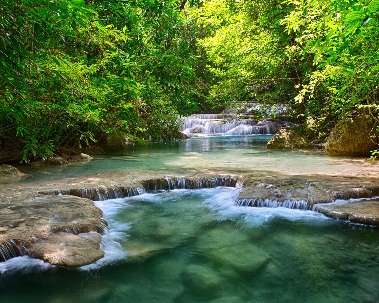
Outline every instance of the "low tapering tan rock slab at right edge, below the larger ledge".
[[366, 225], [379, 225], [379, 199], [316, 204], [313, 210], [331, 218]]

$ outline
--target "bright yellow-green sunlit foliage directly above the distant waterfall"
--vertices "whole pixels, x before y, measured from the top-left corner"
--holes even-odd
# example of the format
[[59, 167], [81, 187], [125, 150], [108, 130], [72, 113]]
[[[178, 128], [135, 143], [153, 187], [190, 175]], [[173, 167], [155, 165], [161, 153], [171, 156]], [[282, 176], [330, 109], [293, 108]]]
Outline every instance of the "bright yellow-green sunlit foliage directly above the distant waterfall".
[[210, 102], [273, 105], [294, 94], [285, 53], [290, 38], [279, 25], [285, 11], [270, 1], [208, 1], [193, 12], [197, 22], [210, 28], [199, 41], [218, 80], [209, 89]]

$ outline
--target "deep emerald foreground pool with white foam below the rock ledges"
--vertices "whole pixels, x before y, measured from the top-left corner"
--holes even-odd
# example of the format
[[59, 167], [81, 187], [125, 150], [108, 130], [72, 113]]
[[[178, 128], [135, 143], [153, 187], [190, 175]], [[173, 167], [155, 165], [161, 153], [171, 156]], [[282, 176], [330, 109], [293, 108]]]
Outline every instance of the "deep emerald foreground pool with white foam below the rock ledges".
[[97, 201], [105, 258], [0, 264], [2, 302], [341, 303], [379, 300], [379, 234], [305, 210], [233, 206], [238, 189]]

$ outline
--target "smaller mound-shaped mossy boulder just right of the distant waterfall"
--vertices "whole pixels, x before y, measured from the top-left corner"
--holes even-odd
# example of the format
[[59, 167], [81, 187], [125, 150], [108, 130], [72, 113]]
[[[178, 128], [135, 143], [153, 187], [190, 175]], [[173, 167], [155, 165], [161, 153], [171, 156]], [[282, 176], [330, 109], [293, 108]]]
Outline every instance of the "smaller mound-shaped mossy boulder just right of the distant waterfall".
[[267, 149], [313, 149], [313, 146], [294, 131], [281, 129], [267, 143]]

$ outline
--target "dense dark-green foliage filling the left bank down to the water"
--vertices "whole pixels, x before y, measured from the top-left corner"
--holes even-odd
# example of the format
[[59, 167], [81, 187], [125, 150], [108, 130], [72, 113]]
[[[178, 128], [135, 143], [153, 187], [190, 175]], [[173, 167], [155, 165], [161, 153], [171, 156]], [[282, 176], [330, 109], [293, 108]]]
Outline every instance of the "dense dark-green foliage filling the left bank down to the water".
[[0, 143], [24, 161], [106, 133], [177, 133], [197, 108], [195, 55], [175, 1], [0, 3]]

